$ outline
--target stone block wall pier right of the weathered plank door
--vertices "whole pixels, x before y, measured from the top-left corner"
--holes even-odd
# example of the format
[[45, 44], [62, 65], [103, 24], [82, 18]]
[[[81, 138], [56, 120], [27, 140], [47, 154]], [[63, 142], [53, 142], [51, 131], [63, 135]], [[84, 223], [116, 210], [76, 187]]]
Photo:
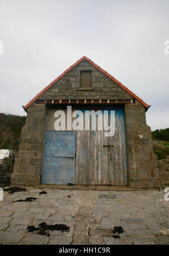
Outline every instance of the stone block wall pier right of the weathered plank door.
[[130, 187], [161, 187], [151, 129], [140, 103], [125, 105], [127, 167]]

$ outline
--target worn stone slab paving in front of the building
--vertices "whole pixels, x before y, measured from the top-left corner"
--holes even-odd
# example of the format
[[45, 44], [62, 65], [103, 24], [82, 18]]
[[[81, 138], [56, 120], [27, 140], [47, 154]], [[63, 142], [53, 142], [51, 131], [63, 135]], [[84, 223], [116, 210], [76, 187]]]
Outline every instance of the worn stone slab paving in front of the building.
[[[26, 187], [27, 191], [0, 201], [0, 244], [169, 244], [169, 201], [164, 191], [74, 189], [74, 186]], [[98, 186], [99, 187], [99, 186]], [[106, 186], [105, 186], [106, 188]], [[105, 189], [103, 188], [103, 189]], [[47, 194], [39, 195], [46, 191]], [[105, 195], [104, 197], [100, 195]], [[36, 197], [32, 202], [16, 202]], [[39, 223], [65, 224], [69, 232], [49, 231], [50, 236], [28, 232]], [[121, 226], [123, 233], [116, 233]]]

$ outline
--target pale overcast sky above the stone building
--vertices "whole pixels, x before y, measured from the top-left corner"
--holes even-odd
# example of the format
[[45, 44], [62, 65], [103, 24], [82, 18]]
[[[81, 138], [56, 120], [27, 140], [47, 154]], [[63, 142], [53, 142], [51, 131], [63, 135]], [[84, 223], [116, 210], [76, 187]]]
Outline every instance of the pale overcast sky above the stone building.
[[28, 103], [82, 56], [152, 105], [169, 127], [169, 0], [0, 0], [0, 112]]

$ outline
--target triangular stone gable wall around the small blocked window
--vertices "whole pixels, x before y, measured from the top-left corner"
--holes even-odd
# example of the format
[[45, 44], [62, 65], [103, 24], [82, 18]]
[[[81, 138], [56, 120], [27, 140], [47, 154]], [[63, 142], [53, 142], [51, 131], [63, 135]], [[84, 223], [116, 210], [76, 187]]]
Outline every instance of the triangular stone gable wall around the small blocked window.
[[[92, 70], [90, 90], [80, 88], [80, 70]], [[134, 99], [109, 77], [106, 77], [88, 61], [83, 60], [64, 77], [54, 83], [38, 99]]]

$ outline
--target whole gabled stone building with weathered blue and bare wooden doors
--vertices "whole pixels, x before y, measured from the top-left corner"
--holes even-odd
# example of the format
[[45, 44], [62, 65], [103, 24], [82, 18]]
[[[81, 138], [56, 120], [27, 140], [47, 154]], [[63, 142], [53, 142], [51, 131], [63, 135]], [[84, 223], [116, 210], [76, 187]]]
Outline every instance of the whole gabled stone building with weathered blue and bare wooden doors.
[[[83, 56], [24, 106], [26, 123], [11, 183], [160, 187], [157, 157], [146, 125], [148, 108]], [[72, 121], [69, 111], [74, 113]], [[96, 128], [91, 127], [89, 119], [88, 129], [84, 129], [84, 123], [80, 129], [77, 117], [85, 112], [92, 118], [91, 111], [97, 112]], [[98, 113], [108, 115], [110, 126], [114, 125], [112, 135], [105, 136], [105, 127], [99, 129]], [[65, 130], [59, 128], [61, 115], [65, 117]]]

